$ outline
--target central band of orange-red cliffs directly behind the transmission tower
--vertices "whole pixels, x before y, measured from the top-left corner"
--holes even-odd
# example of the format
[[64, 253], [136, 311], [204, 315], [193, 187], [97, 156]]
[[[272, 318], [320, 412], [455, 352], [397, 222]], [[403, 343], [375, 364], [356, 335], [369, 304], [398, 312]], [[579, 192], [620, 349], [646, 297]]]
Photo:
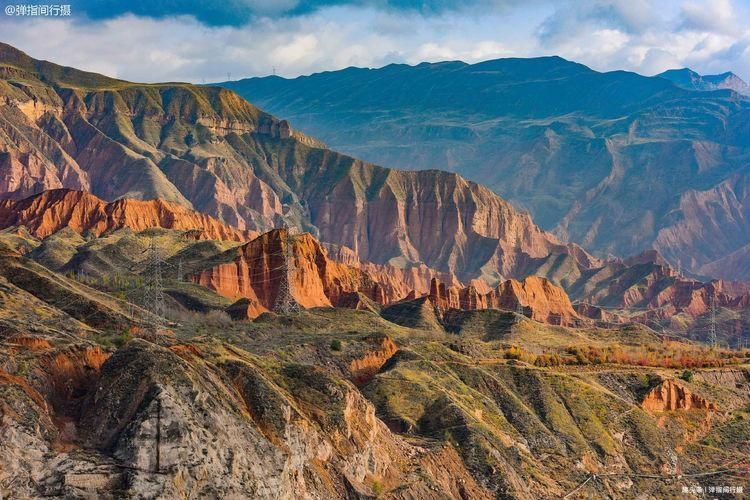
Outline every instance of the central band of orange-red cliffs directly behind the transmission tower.
[[428, 292], [421, 293], [408, 284], [419, 284], [429, 276], [427, 273], [413, 274], [417, 279], [406, 280], [402, 270], [388, 271], [389, 266], [352, 261], [354, 267], [333, 261], [311, 235], [291, 236], [286, 230], [265, 233], [226, 252], [218, 258], [223, 262], [217, 264], [216, 260], [210, 259], [208, 267], [191, 279], [224, 297], [238, 299], [227, 310], [236, 319], [273, 310], [289, 262], [293, 269], [291, 294], [305, 308], [369, 309], [367, 301], [387, 305], [423, 297], [438, 310], [520, 309], [544, 323], [569, 326], [584, 322], [565, 291], [544, 278], [507, 280], [482, 293], [473, 285], [446, 285], [433, 277]]

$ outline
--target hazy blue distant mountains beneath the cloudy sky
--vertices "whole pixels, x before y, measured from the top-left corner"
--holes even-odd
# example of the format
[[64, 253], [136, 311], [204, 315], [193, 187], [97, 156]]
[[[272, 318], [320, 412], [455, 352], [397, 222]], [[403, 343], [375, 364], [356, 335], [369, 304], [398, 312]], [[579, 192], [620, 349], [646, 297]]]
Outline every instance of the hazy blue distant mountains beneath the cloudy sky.
[[750, 101], [666, 79], [680, 74], [544, 57], [220, 85], [335, 149], [481, 182], [599, 257], [656, 249], [696, 275], [748, 279]]

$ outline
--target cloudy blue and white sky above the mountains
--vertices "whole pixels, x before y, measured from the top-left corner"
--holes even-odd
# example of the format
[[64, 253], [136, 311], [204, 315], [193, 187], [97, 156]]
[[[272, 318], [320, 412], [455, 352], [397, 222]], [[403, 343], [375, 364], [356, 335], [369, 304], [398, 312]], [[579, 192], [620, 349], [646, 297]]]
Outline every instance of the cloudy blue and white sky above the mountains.
[[70, 17], [7, 15], [23, 3], [0, 0], [0, 41], [141, 82], [544, 55], [750, 81], [750, 0], [61, 1]]

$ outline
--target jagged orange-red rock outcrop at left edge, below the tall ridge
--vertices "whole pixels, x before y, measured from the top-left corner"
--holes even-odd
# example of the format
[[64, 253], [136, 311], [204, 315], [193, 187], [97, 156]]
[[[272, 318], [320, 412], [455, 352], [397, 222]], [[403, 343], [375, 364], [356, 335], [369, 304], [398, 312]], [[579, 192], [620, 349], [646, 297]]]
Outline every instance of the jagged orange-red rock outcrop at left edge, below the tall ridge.
[[0, 229], [13, 226], [25, 226], [39, 238], [64, 227], [97, 236], [122, 228], [140, 231], [153, 227], [195, 230], [201, 239], [243, 241], [255, 236], [175, 203], [133, 199], [107, 203], [92, 194], [67, 189], [19, 201], [0, 200]]

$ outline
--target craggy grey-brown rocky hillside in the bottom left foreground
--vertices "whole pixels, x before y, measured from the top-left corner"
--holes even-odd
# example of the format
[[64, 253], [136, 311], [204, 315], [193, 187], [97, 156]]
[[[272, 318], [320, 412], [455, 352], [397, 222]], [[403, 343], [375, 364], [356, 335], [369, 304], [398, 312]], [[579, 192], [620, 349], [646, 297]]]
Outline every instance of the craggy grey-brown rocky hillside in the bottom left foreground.
[[437, 484], [490, 498], [455, 451], [391, 433], [349, 382], [306, 365], [267, 370], [236, 349], [176, 347], [117, 350], [81, 392], [67, 423], [77, 433], [23, 377], [0, 372], [0, 486], [12, 479], [29, 497], [349, 498], [404, 485], [424, 498]]

